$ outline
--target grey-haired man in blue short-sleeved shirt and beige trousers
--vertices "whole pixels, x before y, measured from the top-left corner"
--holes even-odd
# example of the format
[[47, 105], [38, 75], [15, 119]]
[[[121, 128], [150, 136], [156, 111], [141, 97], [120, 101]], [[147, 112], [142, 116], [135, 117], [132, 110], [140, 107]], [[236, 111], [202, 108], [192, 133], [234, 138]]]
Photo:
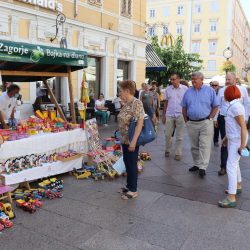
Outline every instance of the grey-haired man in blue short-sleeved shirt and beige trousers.
[[201, 178], [206, 175], [209, 164], [213, 118], [219, 106], [215, 91], [203, 85], [203, 79], [201, 72], [194, 72], [193, 87], [186, 91], [182, 99], [182, 113], [189, 133], [194, 162], [194, 166], [189, 171], [199, 170]]

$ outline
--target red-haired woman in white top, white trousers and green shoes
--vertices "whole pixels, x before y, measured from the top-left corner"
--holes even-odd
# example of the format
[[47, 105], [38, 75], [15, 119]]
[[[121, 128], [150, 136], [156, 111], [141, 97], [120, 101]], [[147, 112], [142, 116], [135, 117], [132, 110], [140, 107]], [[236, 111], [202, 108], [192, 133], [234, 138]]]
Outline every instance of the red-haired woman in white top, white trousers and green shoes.
[[245, 122], [245, 109], [240, 102], [241, 93], [236, 86], [228, 86], [224, 93], [224, 98], [229, 102], [229, 107], [225, 116], [226, 137], [222, 144], [228, 144], [227, 176], [228, 190], [227, 197], [219, 201], [218, 205], [223, 208], [236, 206], [236, 195], [242, 192], [240, 153], [246, 148], [247, 128]]

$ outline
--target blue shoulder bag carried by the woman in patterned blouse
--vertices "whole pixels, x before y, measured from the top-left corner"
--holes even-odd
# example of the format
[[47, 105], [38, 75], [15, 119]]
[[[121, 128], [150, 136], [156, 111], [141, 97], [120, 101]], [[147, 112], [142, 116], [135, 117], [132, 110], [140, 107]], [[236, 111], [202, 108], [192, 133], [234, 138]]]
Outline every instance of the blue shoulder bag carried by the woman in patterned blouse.
[[[134, 112], [134, 101], [132, 104], [132, 113]], [[137, 125], [137, 121], [136, 121], [135, 117], [133, 116], [130, 120], [130, 125], [129, 125], [129, 129], [128, 129], [129, 141], [133, 140], [136, 125]], [[137, 139], [136, 146], [144, 146], [147, 143], [154, 141], [155, 138], [156, 138], [156, 132], [154, 129], [154, 125], [153, 125], [150, 117], [146, 115], [144, 117], [143, 127], [142, 127], [141, 133]]]

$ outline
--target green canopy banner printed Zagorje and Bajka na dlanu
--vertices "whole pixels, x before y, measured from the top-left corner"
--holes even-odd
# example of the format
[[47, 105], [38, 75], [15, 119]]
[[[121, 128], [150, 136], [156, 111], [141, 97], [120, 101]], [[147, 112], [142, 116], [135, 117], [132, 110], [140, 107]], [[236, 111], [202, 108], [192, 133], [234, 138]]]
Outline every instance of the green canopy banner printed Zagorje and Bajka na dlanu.
[[86, 68], [87, 53], [80, 50], [54, 48], [0, 40], [0, 61], [67, 65]]

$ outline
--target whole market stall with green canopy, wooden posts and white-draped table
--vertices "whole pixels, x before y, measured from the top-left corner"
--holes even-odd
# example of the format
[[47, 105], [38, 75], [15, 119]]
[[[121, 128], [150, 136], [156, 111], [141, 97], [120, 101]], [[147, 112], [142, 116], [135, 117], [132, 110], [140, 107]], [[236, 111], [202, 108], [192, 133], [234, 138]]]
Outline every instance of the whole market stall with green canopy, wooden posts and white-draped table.
[[[0, 40], [0, 76], [3, 82], [37, 82], [43, 81], [52, 102], [58, 110], [60, 117], [66, 121], [64, 113], [59, 106], [47, 80], [52, 77], [67, 77], [70, 96], [71, 121], [76, 123], [74, 96], [72, 85], [72, 72], [86, 68], [87, 53], [85, 51], [55, 48], [43, 45], [16, 43]], [[11, 50], [14, 48], [14, 51]], [[44, 134], [22, 139], [20, 141], [4, 142], [0, 147], [0, 162], [13, 160], [31, 154], [44, 154], [47, 152], [63, 152], [62, 148], [77, 143], [83, 143], [80, 153], [88, 150], [85, 131], [74, 130], [55, 134]], [[73, 148], [74, 149], [74, 148]], [[27, 164], [27, 166], [29, 166]], [[33, 165], [32, 165], [33, 166]], [[5, 184], [24, 183], [29, 188], [29, 181], [49, 177], [56, 174], [72, 171], [82, 167], [82, 157], [67, 162], [55, 161], [44, 163], [42, 166], [23, 169], [20, 172], [2, 174]], [[19, 171], [18, 169], [17, 171]]]

